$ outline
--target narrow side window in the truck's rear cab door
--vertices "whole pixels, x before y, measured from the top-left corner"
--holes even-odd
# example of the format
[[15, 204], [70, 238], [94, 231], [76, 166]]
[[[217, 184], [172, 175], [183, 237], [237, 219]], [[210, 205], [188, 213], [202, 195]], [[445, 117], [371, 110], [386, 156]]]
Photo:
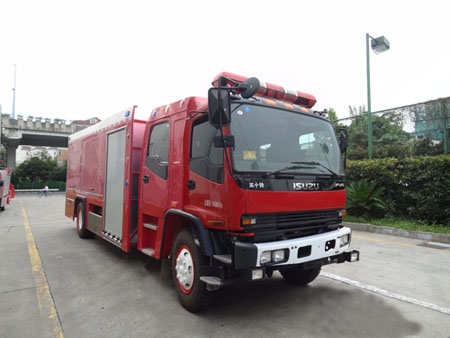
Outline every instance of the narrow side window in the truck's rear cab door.
[[167, 179], [169, 166], [169, 122], [153, 126], [147, 148], [147, 167], [162, 179]]

